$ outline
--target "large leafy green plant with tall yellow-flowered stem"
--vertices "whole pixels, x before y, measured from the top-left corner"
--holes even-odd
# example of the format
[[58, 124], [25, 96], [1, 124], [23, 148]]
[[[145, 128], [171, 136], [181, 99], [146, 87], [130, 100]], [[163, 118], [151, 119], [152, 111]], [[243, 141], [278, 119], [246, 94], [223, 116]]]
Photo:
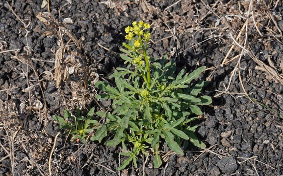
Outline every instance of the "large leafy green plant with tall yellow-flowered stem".
[[[182, 69], [174, 77], [174, 60], [168, 62], [166, 56], [157, 60], [148, 55], [149, 28], [150, 24], [142, 21], [133, 22], [126, 28], [129, 44], [123, 43], [127, 49], [121, 51], [128, 56], [121, 54], [121, 58], [128, 65], [126, 68], [116, 68], [109, 76], [114, 78], [117, 88], [102, 81], [95, 84], [105, 92], [96, 98], [112, 99], [114, 111], [97, 112], [106, 123], [91, 140], [101, 142], [107, 132], [115, 134], [106, 145], [122, 143], [123, 150], [127, 152], [121, 154], [129, 156], [118, 170], [124, 169], [131, 161], [137, 167], [138, 154], [148, 155], [149, 148], [154, 151], [154, 168], [158, 168], [162, 163], [158, 150], [163, 140], [180, 155], [183, 155], [180, 146], [186, 146], [187, 141], [197, 147], [206, 147], [194, 134], [197, 126], [190, 126], [196, 115], [203, 114], [199, 105], [211, 103], [209, 96], [199, 95], [205, 81], [191, 87], [191, 81], [198, 78], [206, 67], [202, 66], [190, 74], [185, 74], [185, 69]], [[131, 150], [127, 149], [126, 142], [132, 144]]]

